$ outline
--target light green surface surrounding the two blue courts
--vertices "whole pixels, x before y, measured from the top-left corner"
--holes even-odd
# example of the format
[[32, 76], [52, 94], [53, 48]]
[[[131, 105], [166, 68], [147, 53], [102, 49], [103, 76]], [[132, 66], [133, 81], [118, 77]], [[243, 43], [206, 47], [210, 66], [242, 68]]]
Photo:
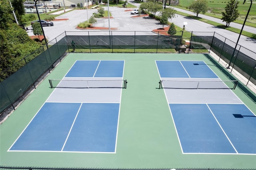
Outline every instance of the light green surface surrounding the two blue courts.
[[[48, 79], [62, 79], [76, 60], [125, 61], [123, 78], [128, 83], [127, 89], [122, 89], [116, 153], [8, 151], [54, 90], [50, 88]], [[104, 169], [256, 169], [256, 154], [182, 153], [164, 90], [158, 89], [160, 77], [156, 60], [204, 61], [220, 79], [228, 80], [202, 54], [70, 53], [0, 126], [0, 165]], [[256, 113], [255, 103], [238, 87], [232, 91]]]

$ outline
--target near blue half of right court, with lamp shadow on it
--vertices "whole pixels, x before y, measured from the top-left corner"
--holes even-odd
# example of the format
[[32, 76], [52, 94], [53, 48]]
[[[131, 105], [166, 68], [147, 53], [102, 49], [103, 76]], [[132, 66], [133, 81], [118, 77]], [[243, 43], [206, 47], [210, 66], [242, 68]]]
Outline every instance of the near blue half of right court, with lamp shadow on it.
[[184, 153], [256, 153], [256, 117], [245, 105], [169, 105]]

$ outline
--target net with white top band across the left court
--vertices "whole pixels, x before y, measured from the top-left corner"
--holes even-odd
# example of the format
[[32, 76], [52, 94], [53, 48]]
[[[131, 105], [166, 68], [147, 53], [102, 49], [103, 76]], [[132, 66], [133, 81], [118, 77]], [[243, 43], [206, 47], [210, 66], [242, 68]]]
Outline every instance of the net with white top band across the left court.
[[74, 79], [49, 79], [51, 88], [124, 88], [126, 80], [74, 80]]

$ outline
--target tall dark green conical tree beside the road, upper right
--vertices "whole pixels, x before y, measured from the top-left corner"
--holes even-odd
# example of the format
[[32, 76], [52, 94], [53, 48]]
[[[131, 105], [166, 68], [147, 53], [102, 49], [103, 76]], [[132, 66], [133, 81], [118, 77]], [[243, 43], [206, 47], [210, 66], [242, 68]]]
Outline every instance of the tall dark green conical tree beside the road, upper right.
[[235, 0], [230, 0], [228, 4], [225, 7], [225, 12], [222, 12], [222, 20], [223, 22], [226, 22], [226, 27], [229, 27], [230, 22], [233, 22], [238, 18], [239, 12], [238, 12], [238, 4], [235, 3]]

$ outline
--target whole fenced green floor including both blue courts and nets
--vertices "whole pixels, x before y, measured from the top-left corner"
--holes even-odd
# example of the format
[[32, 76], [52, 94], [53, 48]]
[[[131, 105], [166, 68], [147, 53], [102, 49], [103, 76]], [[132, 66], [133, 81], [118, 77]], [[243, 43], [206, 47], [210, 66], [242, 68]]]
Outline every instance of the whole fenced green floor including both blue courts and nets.
[[70, 53], [1, 125], [1, 165], [254, 169], [255, 114], [202, 54]]

